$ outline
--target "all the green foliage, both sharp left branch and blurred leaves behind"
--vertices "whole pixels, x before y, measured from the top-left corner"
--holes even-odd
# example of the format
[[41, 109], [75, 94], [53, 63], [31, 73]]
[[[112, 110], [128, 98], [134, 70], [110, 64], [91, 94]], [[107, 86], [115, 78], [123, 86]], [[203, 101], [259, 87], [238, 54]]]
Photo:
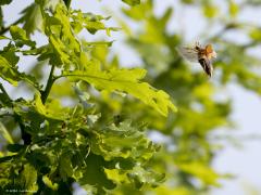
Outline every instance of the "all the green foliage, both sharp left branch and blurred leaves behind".
[[[227, 1], [226, 18], [214, 2], [197, 2], [202, 18], [223, 27], [202, 36], [220, 56], [211, 81], [178, 56], [175, 48], [185, 37], [167, 31], [171, 8], [156, 16], [152, 0], [122, 1], [128, 4], [123, 14], [144, 24], [138, 30], [122, 17], [121, 28], [108, 27], [111, 17], [73, 10], [71, 1], [61, 0], [35, 0], [14, 25], [1, 23], [1, 78], [34, 96], [14, 100], [0, 83], [1, 194], [13, 188], [72, 194], [74, 182], [90, 194], [195, 194], [220, 186], [224, 176], [211, 167], [217, 146], [208, 138], [232, 125], [232, 110], [229, 100], [215, 94], [235, 81], [261, 93], [253, 72], [260, 60], [248, 52], [260, 42], [260, 30], [235, 20], [243, 6], [234, 1]], [[33, 40], [36, 30], [48, 43]], [[110, 35], [117, 30], [140, 55], [139, 67], [123, 68], [121, 56], [111, 55]], [[226, 40], [223, 35], [233, 30], [250, 41]], [[80, 40], [82, 31], [89, 37], [104, 31], [108, 40]], [[26, 55], [37, 63], [22, 73]], [[50, 69], [46, 80], [41, 68]], [[156, 135], [164, 138], [161, 148], [150, 140]]]

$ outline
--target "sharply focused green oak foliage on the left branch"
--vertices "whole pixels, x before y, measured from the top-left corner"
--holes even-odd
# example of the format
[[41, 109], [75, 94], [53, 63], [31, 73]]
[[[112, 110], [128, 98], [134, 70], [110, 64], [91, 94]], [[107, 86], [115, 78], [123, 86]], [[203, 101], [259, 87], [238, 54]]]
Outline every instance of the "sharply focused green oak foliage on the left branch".
[[[71, 184], [78, 182], [87, 191], [101, 194], [121, 184], [112, 174], [138, 188], [158, 185], [164, 174], [146, 164], [159, 146], [146, 136], [146, 126], [114, 121], [113, 115], [105, 126], [99, 126], [102, 114], [89, 102], [92, 86], [102, 93], [130, 94], [164, 116], [169, 108], [175, 110], [164, 91], [141, 82], [145, 69], [101, 69], [102, 62], [92, 54], [96, 44], [77, 38], [84, 29], [91, 35], [105, 30], [110, 36], [117, 28], [104, 25], [109, 17], [71, 10], [62, 1], [36, 1], [22, 14], [24, 27], [11, 26], [11, 37], [1, 37], [8, 41], [1, 50], [1, 78], [14, 87], [20, 82], [29, 84], [35, 95], [33, 100], [12, 100], [1, 84], [1, 131], [9, 142], [1, 158], [1, 192], [15, 188], [67, 194]], [[30, 39], [36, 29], [48, 38], [47, 44], [38, 47]], [[18, 70], [21, 54], [49, 62], [51, 70], [45, 89], [37, 77]], [[63, 106], [60, 99], [49, 95], [61, 78], [67, 78], [74, 90], [73, 106]], [[11, 120], [9, 130], [5, 118]], [[24, 145], [13, 143], [10, 134], [17, 123]]]

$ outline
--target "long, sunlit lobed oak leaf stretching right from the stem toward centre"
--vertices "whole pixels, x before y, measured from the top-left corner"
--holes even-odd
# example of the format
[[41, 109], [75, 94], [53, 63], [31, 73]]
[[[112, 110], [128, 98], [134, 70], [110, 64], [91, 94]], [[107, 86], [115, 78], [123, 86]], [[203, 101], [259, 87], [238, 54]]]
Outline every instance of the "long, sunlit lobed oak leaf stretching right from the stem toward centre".
[[176, 112], [176, 107], [171, 102], [169, 94], [152, 88], [147, 82], [139, 81], [145, 75], [146, 70], [141, 68], [102, 72], [97, 64], [88, 65], [85, 72], [64, 72], [63, 74], [64, 77], [69, 77], [72, 80], [85, 80], [94, 84], [98, 90], [129, 93], [153, 107], [163, 116], [167, 115], [169, 108]]

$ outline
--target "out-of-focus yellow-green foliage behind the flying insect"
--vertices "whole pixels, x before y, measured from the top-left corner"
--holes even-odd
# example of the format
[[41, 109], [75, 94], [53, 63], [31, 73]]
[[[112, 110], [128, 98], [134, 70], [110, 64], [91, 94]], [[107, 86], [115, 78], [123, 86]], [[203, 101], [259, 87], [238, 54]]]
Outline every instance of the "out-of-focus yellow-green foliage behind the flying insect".
[[[177, 47], [186, 44], [186, 37], [169, 30], [173, 18], [172, 8], [160, 16], [154, 14], [157, 8], [152, 0], [130, 9], [124, 8], [123, 13], [128, 20], [142, 24], [138, 29], [129, 28], [119, 17], [127, 35], [126, 43], [142, 60], [140, 65], [148, 69], [148, 80], [164, 89], [178, 105], [178, 112], [170, 114], [166, 119], [128, 100], [117, 107], [126, 116], [132, 115], [133, 109], [137, 110], [135, 120], [148, 121], [152, 134], [158, 130], [161, 133], [157, 135], [164, 138], [164, 150], [151, 161], [154, 168], [166, 172], [166, 182], [154, 191], [157, 194], [199, 194], [208, 192], [210, 186], [220, 186], [219, 181], [227, 176], [212, 169], [220, 145], [209, 138], [220, 127], [232, 127], [233, 121], [229, 119], [229, 98], [219, 100], [216, 96], [232, 82], [260, 94], [261, 77], [257, 69], [261, 60], [249, 52], [260, 43], [260, 28], [239, 20], [244, 9], [252, 4], [249, 1], [241, 4], [227, 1], [226, 10], [222, 10], [215, 1], [183, 2], [190, 6], [197, 3], [195, 9], [200, 9], [201, 20], [210, 31], [214, 25], [220, 26], [215, 34], [202, 29], [202, 35], [198, 35], [202, 41], [213, 43], [216, 48], [219, 58], [214, 62], [215, 76], [211, 80], [184, 62], [176, 52]], [[260, 5], [260, 2], [256, 5]], [[226, 38], [226, 34], [236, 35], [238, 31], [248, 37], [247, 42], [237, 43]], [[105, 103], [110, 101], [105, 100]], [[121, 191], [128, 192], [124, 187]]]

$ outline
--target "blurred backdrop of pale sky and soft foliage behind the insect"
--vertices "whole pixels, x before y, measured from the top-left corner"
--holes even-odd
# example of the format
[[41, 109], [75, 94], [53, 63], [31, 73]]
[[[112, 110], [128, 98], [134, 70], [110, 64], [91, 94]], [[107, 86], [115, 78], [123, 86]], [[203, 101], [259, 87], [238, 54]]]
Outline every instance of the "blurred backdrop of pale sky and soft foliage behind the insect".
[[[7, 25], [32, 2], [14, 0], [3, 6]], [[179, 109], [164, 119], [133, 100], [121, 105], [115, 100], [95, 100], [103, 105], [101, 112], [111, 109], [149, 123], [148, 136], [163, 145], [151, 164], [167, 170], [159, 194], [261, 194], [261, 1], [148, 0], [129, 8], [120, 0], [73, 0], [72, 9], [111, 15], [108, 26], [121, 27], [120, 31], [110, 38], [83, 32], [80, 39], [114, 41], [97, 56], [105, 65], [145, 67], [147, 81], [171, 94]], [[40, 32], [33, 39], [39, 46], [47, 42]], [[217, 52], [211, 79], [199, 64], [176, 52], [176, 47], [196, 41], [212, 43]], [[30, 73], [36, 62], [20, 63]], [[22, 87], [9, 91], [14, 98], [32, 98]]]

